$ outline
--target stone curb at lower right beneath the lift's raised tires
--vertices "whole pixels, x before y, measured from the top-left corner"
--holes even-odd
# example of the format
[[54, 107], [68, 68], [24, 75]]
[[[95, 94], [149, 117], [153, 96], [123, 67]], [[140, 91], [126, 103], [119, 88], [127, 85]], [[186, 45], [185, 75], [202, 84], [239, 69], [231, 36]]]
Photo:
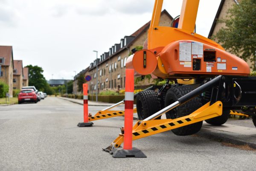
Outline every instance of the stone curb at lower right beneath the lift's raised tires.
[[218, 142], [226, 142], [234, 145], [248, 145], [250, 148], [256, 149], [255, 137], [226, 132], [223, 130], [213, 130], [211, 128], [202, 127], [196, 135]]

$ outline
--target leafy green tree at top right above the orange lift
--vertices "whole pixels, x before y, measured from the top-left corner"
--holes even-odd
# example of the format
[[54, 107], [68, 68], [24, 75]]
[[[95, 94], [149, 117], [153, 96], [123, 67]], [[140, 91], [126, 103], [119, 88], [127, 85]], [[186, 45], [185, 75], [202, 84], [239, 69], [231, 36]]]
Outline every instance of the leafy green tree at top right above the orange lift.
[[[212, 38], [229, 52], [247, 61], [255, 61], [256, 53], [256, 0], [241, 0], [228, 11], [225, 23]], [[254, 66], [255, 67], [255, 66]]]

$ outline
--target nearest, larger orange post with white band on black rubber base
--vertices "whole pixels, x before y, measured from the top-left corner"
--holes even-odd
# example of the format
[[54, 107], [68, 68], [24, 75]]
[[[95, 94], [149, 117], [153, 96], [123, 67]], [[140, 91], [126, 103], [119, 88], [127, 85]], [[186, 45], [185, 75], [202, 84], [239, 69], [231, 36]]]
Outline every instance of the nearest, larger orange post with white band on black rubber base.
[[125, 70], [125, 127], [124, 127], [124, 147], [113, 149], [112, 156], [123, 157], [146, 157], [138, 148], [132, 147], [133, 128], [133, 106], [134, 106], [134, 69]]

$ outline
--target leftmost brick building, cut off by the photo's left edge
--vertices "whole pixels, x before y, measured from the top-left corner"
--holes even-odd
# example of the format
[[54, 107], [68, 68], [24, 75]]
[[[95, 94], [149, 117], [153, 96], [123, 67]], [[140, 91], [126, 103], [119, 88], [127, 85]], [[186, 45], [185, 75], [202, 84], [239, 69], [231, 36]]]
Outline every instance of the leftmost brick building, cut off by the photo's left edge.
[[0, 46], [0, 81], [9, 85], [9, 95], [12, 97], [13, 78], [12, 46]]

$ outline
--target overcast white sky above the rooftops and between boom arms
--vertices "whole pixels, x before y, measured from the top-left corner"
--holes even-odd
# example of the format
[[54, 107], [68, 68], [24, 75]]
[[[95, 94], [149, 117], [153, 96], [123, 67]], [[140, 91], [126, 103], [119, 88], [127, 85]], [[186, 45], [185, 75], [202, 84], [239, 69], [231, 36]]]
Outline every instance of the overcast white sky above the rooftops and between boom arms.
[[[208, 36], [221, 0], [201, 0], [197, 33]], [[182, 0], [163, 9], [180, 14]], [[38, 65], [47, 80], [71, 79], [125, 35], [151, 20], [154, 0], [0, 0], [0, 45]]]

